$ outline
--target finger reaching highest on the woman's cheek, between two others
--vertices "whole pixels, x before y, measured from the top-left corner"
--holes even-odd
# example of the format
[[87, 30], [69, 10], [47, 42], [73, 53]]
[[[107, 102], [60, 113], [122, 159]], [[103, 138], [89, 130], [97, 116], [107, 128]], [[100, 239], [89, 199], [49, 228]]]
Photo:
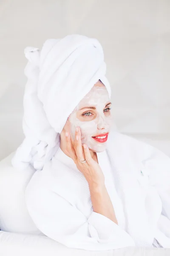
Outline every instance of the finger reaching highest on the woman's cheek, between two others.
[[[78, 131], [77, 131], [78, 130]], [[82, 140], [81, 140], [81, 131], [80, 128], [77, 127], [75, 131], [75, 143], [74, 148], [79, 160], [85, 160], [85, 154], [82, 148]]]

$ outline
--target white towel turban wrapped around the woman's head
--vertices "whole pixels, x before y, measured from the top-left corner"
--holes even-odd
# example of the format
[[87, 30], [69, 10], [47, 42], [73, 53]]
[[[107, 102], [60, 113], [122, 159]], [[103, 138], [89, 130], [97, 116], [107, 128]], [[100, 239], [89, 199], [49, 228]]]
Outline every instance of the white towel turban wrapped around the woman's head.
[[100, 79], [109, 95], [106, 64], [101, 44], [95, 38], [68, 35], [48, 39], [42, 50], [26, 47], [28, 78], [23, 105], [25, 139], [17, 148], [12, 165], [41, 170], [59, 147], [60, 132], [79, 101]]

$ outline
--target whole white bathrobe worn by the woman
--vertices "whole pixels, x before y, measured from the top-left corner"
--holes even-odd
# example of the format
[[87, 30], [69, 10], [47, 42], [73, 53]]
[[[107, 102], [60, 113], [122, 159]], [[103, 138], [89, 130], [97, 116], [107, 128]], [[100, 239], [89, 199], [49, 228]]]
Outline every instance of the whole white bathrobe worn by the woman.
[[85, 177], [60, 148], [28, 183], [31, 218], [42, 233], [68, 247], [170, 248], [170, 158], [115, 131], [107, 143], [97, 157], [118, 224], [93, 211]]

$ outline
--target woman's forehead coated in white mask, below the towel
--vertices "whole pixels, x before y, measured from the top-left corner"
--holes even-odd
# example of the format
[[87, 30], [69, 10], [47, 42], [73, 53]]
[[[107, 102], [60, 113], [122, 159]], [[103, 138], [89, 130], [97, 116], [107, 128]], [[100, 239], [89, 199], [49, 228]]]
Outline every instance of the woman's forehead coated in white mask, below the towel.
[[108, 91], [105, 86], [94, 86], [79, 102], [78, 107], [87, 107], [93, 105], [105, 105], [110, 100]]

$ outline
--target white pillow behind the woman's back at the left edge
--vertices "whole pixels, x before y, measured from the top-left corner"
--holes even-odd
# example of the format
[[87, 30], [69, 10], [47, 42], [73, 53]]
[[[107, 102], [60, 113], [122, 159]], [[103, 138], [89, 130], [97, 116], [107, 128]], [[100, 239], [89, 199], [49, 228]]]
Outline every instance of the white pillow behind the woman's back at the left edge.
[[15, 169], [11, 164], [14, 153], [0, 161], [0, 230], [39, 235], [42, 233], [28, 214], [24, 198], [35, 171]]

